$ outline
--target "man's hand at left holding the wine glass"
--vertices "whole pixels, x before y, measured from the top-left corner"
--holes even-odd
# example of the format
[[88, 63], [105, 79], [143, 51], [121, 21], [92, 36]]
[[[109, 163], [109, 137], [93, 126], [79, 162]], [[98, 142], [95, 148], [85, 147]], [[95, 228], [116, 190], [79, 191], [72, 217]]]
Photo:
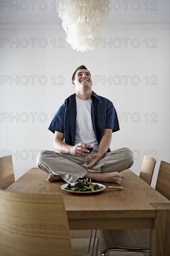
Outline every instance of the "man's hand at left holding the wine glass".
[[[89, 150], [86, 149], [88, 148], [89, 144], [86, 144], [84, 142], [78, 143], [75, 146], [72, 146], [69, 150], [69, 153], [71, 155], [75, 155], [75, 156], [81, 156], [81, 157], [85, 157], [87, 155], [89, 155]], [[84, 148], [86, 147], [86, 148]]]

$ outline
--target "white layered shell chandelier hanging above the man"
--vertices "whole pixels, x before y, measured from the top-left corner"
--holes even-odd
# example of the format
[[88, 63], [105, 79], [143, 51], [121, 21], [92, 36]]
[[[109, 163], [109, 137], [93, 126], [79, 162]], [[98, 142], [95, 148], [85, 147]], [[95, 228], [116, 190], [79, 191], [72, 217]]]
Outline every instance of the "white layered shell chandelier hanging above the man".
[[109, 15], [109, 0], [64, 0], [58, 8], [66, 41], [80, 52], [92, 50], [100, 38], [105, 18]]

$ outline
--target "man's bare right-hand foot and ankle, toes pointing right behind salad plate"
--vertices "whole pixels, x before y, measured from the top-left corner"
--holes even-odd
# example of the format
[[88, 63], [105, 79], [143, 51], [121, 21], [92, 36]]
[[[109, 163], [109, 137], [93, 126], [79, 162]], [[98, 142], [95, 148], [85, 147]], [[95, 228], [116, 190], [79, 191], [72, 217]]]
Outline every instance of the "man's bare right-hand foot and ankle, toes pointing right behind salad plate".
[[123, 175], [118, 172], [106, 172], [106, 173], [90, 173], [88, 172], [84, 178], [93, 179], [98, 182], [113, 182], [122, 184]]

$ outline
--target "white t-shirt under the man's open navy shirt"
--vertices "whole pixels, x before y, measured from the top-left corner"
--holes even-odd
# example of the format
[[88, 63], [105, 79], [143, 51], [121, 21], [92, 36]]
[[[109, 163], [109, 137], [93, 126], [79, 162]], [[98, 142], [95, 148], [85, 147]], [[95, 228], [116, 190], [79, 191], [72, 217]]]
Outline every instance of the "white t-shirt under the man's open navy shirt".
[[75, 144], [80, 142], [93, 143], [94, 150], [98, 150], [98, 141], [92, 126], [92, 100], [83, 101], [76, 96], [77, 118]]

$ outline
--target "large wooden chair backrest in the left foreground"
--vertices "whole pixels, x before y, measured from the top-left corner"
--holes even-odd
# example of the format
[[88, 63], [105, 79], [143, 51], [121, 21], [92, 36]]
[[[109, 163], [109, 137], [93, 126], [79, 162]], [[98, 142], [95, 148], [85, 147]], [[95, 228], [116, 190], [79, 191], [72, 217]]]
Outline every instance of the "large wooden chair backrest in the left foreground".
[[41, 194], [1, 191], [1, 255], [73, 256], [62, 197]]

